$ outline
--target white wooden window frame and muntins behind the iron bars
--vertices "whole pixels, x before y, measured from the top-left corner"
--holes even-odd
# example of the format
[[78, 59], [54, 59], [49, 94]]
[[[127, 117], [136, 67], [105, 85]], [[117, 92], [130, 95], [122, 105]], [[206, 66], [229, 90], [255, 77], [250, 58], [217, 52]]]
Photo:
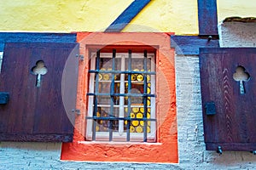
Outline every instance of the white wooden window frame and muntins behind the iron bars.
[[[142, 48], [143, 49], [143, 48]], [[143, 50], [142, 50], [143, 51]], [[90, 52], [90, 70], [91, 71], [95, 71], [96, 70], [96, 52]], [[103, 53], [100, 53], [100, 58], [108, 58], [108, 59], [112, 59], [113, 58], [113, 53], [107, 53], [107, 52], [103, 52]], [[124, 68], [121, 68], [121, 71], [125, 71], [125, 59], [129, 59], [129, 53], [124, 53], [124, 52], [120, 52], [120, 53], [116, 53], [115, 54], [115, 58], [117, 59], [121, 59], [121, 65], [124, 66]], [[136, 53], [131, 53], [131, 59], [143, 59], [144, 58], [144, 55], [143, 55], [143, 52], [139, 53], [139, 52], [136, 52]], [[151, 69], [151, 72], [154, 72], [155, 71], [155, 54], [154, 53], [147, 53], [147, 59], [152, 59], [152, 62], [150, 64], [150, 69]], [[95, 75], [96, 73], [90, 73], [90, 76], [89, 76], [89, 94], [93, 94], [95, 93]], [[125, 77], [125, 74], [123, 73], [124, 77]], [[124, 78], [123, 78], [124, 79]], [[155, 79], [156, 79], [156, 76], [154, 74], [151, 74], [150, 75], [150, 94], [155, 94]], [[115, 81], [116, 82], [116, 81]], [[120, 82], [120, 92], [119, 94], [125, 94], [125, 82], [129, 82], [128, 80], [125, 81], [125, 79], [122, 81], [121, 78], [119, 80]], [[131, 81], [131, 83], [134, 82], [134, 81]], [[144, 82], [143, 82], [144, 84]], [[122, 88], [123, 87], [123, 88]], [[122, 93], [121, 90], [124, 92]], [[93, 95], [89, 95], [88, 96], [88, 115], [87, 117], [93, 117], [93, 103], [94, 103], [94, 97]], [[124, 117], [124, 110], [125, 110], [125, 107], [126, 108], [129, 108], [129, 105], [126, 105], [124, 104], [124, 96], [119, 96], [120, 98], [120, 102], [119, 102], [119, 105], [115, 105], [113, 107], [119, 107], [119, 111], [121, 113], [123, 113], [121, 116], [119, 117]], [[123, 104], [121, 103], [121, 99], [123, 100]], [[151, 97], [151, 101], [150, 101], [150, 118], [149, 118], [149, 121], [152, 120], [152, 119], [156, 119], [156, 113], [155, 113], [155, 97]], [[122, 105], [123, 106], [123, 111], [122, 110]], [[99, 105], [97, 105], [99, 106]], [[100, 106], [104, 106], [104, 107], [111, 107], [111, 105], [100, 105]], [[133, 107], [138, 107], [138, 105], [130, 105], [131, 108]], [[140, 107], [143, 107], [140, 106]], [[148, 118], [147, 118], [148, 120]], [[93, 119], [87, 119], [86, 120], [86, 140], [94, 140], [93, 138]], [[119, 126], [122, 124], [123, 120], [119, 120]], [[147, 126], [148, 127], [148, 126]], [[123, 128], [122, 132], [121, 130], [119, 129], [119, 132], [113, 132], [113, 141], [128, 141], [127, 139], [127, 133], [124, 132], [124, 126], [120, 126], [120, 128]], [[156, 141], [156, 121], [150, 121], [150, 133], [147, 133], [146, 135], [146, 141], [147, 142], [155, 142]], [[108, 132], [96, 132], [96, 141], [108, 141], [109, 140], [109, 133]], [[127, 140], [125, 140], [127, 139]], [[112, 140], [112, 139], [111, 139]], [[130, 133], [130, 137], [129, 137], [129, 142], [143, 142], [143, 133]]]

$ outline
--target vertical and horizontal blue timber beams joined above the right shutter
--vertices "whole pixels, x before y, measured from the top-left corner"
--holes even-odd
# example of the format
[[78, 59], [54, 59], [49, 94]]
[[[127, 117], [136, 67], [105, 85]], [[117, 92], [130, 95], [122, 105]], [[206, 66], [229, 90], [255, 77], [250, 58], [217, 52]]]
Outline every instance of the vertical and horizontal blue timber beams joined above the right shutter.
[[171, 36], [176, 54], [198, 55], [199, 48], [218, 48], [218, 15], [216, 0], [197, 0], [198, 36]]

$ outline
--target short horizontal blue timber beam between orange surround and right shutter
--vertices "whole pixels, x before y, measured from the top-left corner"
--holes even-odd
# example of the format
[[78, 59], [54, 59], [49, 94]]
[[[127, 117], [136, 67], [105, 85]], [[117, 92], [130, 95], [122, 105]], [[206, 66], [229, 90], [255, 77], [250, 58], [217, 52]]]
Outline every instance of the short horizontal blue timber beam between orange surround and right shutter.
[[199, 48], [218, 48], [218, 39], [208, 40], [198, 36], [171, 36], [171, 48], [180, 55], [198, 55]]

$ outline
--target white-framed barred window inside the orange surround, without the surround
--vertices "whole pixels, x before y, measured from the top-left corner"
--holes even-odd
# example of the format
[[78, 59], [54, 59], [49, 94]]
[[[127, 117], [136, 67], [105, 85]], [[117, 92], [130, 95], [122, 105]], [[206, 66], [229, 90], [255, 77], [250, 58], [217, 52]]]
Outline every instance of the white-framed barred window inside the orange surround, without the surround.
[[91, 53], [87, 140], [155, 140], [154, 54]]

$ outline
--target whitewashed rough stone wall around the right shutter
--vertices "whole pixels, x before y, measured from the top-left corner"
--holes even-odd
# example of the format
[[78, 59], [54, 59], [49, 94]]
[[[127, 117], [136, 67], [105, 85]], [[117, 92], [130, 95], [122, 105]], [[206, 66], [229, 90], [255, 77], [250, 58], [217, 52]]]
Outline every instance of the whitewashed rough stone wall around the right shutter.
[[[256, 24], [224, 23], [220, 47], [255, 47]], [[205, 150], [198, 56], [176, 56], [179, 165], [184, 169], [256, 169], [250, 152]]]

